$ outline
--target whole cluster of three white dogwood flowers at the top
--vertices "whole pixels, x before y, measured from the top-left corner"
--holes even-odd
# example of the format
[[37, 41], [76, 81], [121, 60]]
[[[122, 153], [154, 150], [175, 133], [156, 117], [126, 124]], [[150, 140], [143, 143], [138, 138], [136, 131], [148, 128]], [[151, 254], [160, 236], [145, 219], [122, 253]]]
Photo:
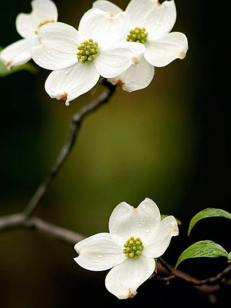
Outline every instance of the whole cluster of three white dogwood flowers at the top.
[[33, 0], [30, 14], [19, 14], [16, 28], [23, 39], [6, 47], [1, 60], [11, 69], [31, 58], [52, 70], [47, 93], [66, 105], [108, 78], [128, 92], [147, 87], [154, 66], [184, 58], [188, 41], [170, 31], [176, 20], [174, 0], [131, 0], [123, 12], [117, 5], [97, 0], [80, 20], [78, 30], [58, 22], [51, 0]]

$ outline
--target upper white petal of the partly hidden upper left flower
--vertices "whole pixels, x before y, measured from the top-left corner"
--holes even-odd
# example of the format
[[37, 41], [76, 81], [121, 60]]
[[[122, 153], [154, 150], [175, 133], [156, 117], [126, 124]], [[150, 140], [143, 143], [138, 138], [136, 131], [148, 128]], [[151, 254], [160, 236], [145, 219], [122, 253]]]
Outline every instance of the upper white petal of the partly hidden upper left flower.
[[58, 10], [51, 0], [34, 0], [31, 2], [30, 14], [20, 13], [16, 19], [16, 29], [23, 38], [33, 38], [39, 24], [46, 20], [58, 20]]

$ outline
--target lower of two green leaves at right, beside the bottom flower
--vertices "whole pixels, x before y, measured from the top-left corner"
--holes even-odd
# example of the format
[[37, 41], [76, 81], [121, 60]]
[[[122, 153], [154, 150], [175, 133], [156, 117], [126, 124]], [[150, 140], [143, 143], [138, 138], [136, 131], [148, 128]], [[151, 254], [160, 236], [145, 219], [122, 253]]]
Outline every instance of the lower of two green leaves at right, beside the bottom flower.
[[228, 252], [224, 250], [223, 247], [220, 245], [212, 242], [212, 241], [200, 241], [189, 248], [187, 248], [185, 251], [181, 253], [179, 256], [179, 259], [176, 263], [175, 268], [178, 267], [178, 265], [190, 258], [198, 258], [198, 257], [208, 257], [208, 258], [217, 258], [217, 257], [226, 257], [228, 258]]

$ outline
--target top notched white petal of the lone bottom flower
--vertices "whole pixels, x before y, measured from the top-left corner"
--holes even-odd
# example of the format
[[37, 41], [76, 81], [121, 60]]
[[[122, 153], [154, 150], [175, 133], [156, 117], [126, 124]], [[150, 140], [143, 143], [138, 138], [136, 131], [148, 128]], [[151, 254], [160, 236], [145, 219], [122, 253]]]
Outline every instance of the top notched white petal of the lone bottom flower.
[[137, 208], [122, 202], [112, 212], [109, 231], [123, 237], [140, 237], [144, 244], [149, 242], [150, 234], [160, 224], [160, 212], [153, 200], [146, 198]]

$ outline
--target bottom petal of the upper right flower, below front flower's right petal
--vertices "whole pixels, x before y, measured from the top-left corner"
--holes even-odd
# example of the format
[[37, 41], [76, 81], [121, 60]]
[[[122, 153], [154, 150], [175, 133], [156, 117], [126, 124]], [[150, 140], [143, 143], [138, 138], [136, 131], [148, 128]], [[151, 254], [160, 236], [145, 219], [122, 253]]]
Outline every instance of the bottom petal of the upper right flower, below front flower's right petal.
[[108, 81], [121, 86], [124, 91], [133, 92], [146, 88], [154, 78], [154, 71], [154, 66], [142, 57], [137, 65], [132, 65], [126, 72]]

